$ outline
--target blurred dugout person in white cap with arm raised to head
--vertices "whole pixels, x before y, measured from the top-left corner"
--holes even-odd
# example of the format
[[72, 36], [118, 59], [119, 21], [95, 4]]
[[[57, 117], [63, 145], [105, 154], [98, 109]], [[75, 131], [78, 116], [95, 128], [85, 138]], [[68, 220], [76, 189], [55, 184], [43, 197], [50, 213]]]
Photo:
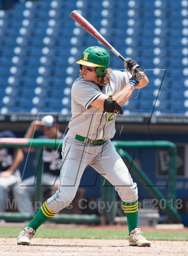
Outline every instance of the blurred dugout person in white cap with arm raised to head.
[[[62, 133], [55, 117], [47, 115], [41, 121], [32, 121], [24, 138], [32, 138], [35, 131], [42, 130], [43, 135], [38, 139], [61, 139]], [[35, 148], [24, 148], [25, 152], [35, 152]], [[58, 149], [43, 147], [43, 186], [49, 186], [51, 194], [58, 189], [61, 168], [61, 147]], [[34, 215], [32, 198], [35, 193], [35, 175], [23, 180], [13, 187], [13, 195], [17, 202], [18, 211]]]

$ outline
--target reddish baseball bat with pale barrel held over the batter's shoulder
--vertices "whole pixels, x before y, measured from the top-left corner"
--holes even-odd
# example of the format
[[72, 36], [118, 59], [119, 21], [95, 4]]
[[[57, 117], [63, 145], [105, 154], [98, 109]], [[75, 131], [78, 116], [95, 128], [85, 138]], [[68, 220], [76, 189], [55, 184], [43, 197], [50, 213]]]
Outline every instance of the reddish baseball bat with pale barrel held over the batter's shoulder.
[[[87, 21], [80, 13], [76, 10], [70, 13], [70, 17], [73, 18], [85, 31], [90, 33], [91, 36], [94, 36], [98, 41], [100, 41], [103, 45], [105, 45], [108, 49], [111, 50], [118, 58], [120, 58], [123, 62], [126, 62], [127, 59], [124, 58], [98, 31], [97, 29], [91, 25], [89, 21]], [[136, 68], [136, 67], [135, 67]], [[141, 80], [144, 78], [144, 72], [137, 72], [137, 79]]]

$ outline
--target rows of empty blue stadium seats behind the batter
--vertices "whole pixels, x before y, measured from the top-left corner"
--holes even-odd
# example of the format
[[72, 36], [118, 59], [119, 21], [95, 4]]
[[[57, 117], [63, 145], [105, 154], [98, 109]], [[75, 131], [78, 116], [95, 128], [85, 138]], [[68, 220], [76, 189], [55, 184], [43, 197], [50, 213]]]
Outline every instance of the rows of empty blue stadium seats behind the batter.
[[[33, 1], [30, 8], [27, 8], [26, 3], [17, 3], [13, 10], [4, 12], [0, 27], [0, 94], [4, 97], [6, 87], [12, 86], [13, 92], [9, 94], [11, 103], [6, 104], [9, 112], [30, 112], [33, 107], [41, 112], [60, 112], [62, 108], [67, 108], [70, 112], [70, 95], [64, 95], [64, 88], [71, 88], [73, 82], [67, 84], [67, 77], [71, 77], [73, 81], [77, 78], [79, 67], [75, 61], [80, 58], [80, 52], [88, 45], [99, 45], [81, 27], [80, 32], [75, 30], [77, 26], [69, 18], [69, 13], [73, 9], [81, 9], [84, 17], [94, 27], [98, 30], [106, 28], [106, 33], [105, 29], [102, 30], [105, 38], [123, 56], [135, 59], [149, 77], [150, 84], [147, 88], [140, 90], [137, 96], [133, 95], [123, 109], [131, 113], [151, 113], [156, 99], [155, 90], [160, 88], [159, 105], [155, 109], [162, 113], [184, 114], [186, 98], [185, 88], [182, 86], [186, 79], [186, 71], [183, 74], [183, 70], [187, 67], [187, 43], [186, 35], [182, 34], [186, 28], [182, 21], [186, 17], [179, 18], [183, 9], [179, 1], [163, 0], [159, 8], [155, 1], [145, 0], [135, 0], [135, 4], [133, 1], [122, 0], [110, 0], [108, 4], [101, 0], [82, 1], [83, 6], [80, 8], [76, 0], [57, 0], [58, 5], [55, 8], [51, 7], [51, 1], [46, 0]], [[27, 9], [30, 11], [29, 17], [24, 16]], [[51, 9], [56, 11], [54, 17], [49, 15]], [[105, 9], [108, 12], [106, 16]], [[161, 13], [155, 16], [158, 9]], [[29, 24], [26, 26], [26, 34], [21, 35], [20, 28], [25, 26], [23, 20], [27, 19]], [[47, 35], [49, 26], [53, 32]], [[23, 41], [19, 42], [18, 37]], [[45, 37], [49, 37], [50, 41], [44, 40]], [[20, 47], [21, 52], [17, 53], [15, 47]], [[71, 54], [72, 48], [73, 51], [76, 48], [77, 53]], [[115, 55], [110, 55], [110, 66], [123, 69], [122, 61]], [[181, 64], [183, 58], [184, 65]], [[10, 69], [13, 66], [17, 67], [17, 72], [11, 74]], [[45, 67], [45, 72], [40, 74], [39, 67]], [[73, 68], [72, 74], [67, 73], [68, 67]], [[154, 72], [154, 68], [163, 70], [158, 74]], [[13, 84], [9, 84], [9, 76], [14, 77]], [[38, 76], [43, 77], [42, 84], [37, 84]], [[41, 87], [40, 94], [35, 94], [36, 87]], [[13, 96], [17, 96], [19, 102], [13, 100]], [[33, 104], [32, 99], [36, 96], [40, 101]], [[62, 104], [65, 97], [69, 99], [67, 105]], [[1, 102], [1, 105], [4, 104]]]

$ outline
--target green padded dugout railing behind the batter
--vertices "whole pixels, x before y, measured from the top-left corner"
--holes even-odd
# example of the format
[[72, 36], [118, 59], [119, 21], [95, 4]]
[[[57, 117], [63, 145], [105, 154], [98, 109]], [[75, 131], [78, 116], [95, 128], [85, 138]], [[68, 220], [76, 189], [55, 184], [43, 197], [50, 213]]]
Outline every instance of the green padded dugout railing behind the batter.
[[[164, 211], [166, 211], [169, 219], [173, 222], [179, 223], [180, 217], [178, 214], [177, 209], [175, 208], [175, 200], [176, 200], [176, 174], [177, 174], [177, 148], [176, 145], [170, 141], [113, 141], [117, 152], [120, 156], [131, 163], [133, 166], [132, 170], [136, 175], [137, 179], [141, 182], [141, 184], [145, 185], [147, 191], [157, 199], [164, 199], [166, 202], [166, 206]], [[41, 180], [43, 175], [43, 161], [42, 161], [42, 150], [43, 146], [47, 148], [58, 148], [62, 147], [62, 140], [61, 139], [14, 139], [14, 138], [1, 138], [0, 145], [4, 147], [17, 147], [17, 148], [25, 148], [25, 147], [32, 147], [37, 149], [36, 159], [37, 159], [37, 170], [36, 170], [36, 194], [35, 200], [37, 202], [42, 202], [43, 200], [43, 192], [41, 186]], [[126, 153], [123, 148], [165, 148], [168, 150], [170, 154], [170, 170], [168, 172], [168, 196], [165, 196], [159, 191], [159, 189], [153, 184], [153, 182], [149, 179], [147, 175], [141, 170], [139, 166], [135, 162], [133, 162], [132, 157]], [[110, 183], [109, 183], [110, 184]], [[115, 189], [113, 186], [106, 183], [102, 185], [101, 189], [101, 198], [105, 202], [114, 202], [115, 199]], [[172, 207], [168, 202], [168, 199], [173, 200]], [[116, 209], [115, 204], [111, 208], [111, 211], [107, 211], [105, 213], [105, 209], [100, 212], [103, 219], [105, 219], [106, 223], [112, 223], [115, 219]], [[21, 214], [21, 213], [8, 213], [8, 212], [1, 212], [0, 219], [4, 220], [28, 220], [31, 216], [28, 214]], [[99, 223], [100, 216], [97, 215], [67, 215], [67, 214], [56, 214], [52, 219], [52, 221], [60, 222], [60, 223]], [[103, 221], [104, 222], [104, 221]]]

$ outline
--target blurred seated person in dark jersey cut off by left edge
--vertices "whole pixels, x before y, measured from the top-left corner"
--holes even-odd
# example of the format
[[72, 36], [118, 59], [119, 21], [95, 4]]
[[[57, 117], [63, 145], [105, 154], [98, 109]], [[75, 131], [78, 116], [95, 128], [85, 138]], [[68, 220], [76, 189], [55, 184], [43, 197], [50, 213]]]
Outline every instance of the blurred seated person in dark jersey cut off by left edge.
[[[16, 138], [9, 130], [0, 132], [0, 138]], [[6, 210], [6, 200], [13, 185], [20, 183], [21, 175], [18, 169], [24, 159], [20, 148], [5, 148], [0, 145], [0, 211]]]

